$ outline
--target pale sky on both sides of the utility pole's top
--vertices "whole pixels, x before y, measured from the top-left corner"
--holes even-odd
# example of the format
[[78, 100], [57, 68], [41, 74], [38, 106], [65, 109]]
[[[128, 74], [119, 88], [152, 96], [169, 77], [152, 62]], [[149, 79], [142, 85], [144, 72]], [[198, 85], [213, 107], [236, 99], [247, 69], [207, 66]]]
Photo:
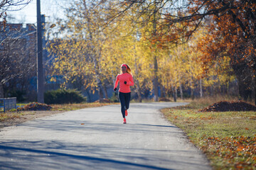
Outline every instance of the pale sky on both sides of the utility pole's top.
[[[64, 8], [73, 0], [41, 0], [41, 14], [46, 15], [46, 22], [53, 22], [55, 18], [64, 16]], [[35, 23], [36, 0], [32, 0], [19, 11], [7, 11], [7, 23]]]

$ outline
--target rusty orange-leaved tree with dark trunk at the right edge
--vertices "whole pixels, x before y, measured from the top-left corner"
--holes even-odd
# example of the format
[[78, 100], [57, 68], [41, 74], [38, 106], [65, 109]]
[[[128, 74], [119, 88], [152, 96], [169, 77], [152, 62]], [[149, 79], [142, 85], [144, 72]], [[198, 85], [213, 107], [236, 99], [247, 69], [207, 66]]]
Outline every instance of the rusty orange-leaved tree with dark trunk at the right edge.
[[[209, 4], [210, 10], [225, 8], [228, 1]], [[255, 88], [255, 7], [253, 1], [233, 1], [230, 8], [206, 20], [206, 34], [198, 43], [201, 63], [208, 72], [216, 62], [230, 58], [230, 68], [238, 79], [239, 94], [247, 100]], [[255, 89], [254, 89], [255, 91]]]

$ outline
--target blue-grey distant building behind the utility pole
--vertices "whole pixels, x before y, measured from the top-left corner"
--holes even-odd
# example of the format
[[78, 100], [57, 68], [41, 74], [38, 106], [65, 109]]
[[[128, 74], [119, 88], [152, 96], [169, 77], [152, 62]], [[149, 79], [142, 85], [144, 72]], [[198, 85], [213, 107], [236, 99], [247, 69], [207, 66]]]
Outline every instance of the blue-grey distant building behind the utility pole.
[[[51, 75], [50, 66], [53, 64], [55, 56], [50, 56], [46, 50], [48, 39], [46, 39], [45, 23], [46, 19], [44, 15], [41, 15], [42, 22], [42, 41], [43, 41], [43, 72], [45, 82], [45, 90], [58, 89], [60, 84], [63, 83], [61, 77], [52, 82], [49, 81]], [[30, 88], [36, 91], [36, 56], [37, 56], [37, 33], [36, 26], [34, 24], [22, 24], [22, 23], [7, 23], [6, 26], [0, 22], [0, 58], [9, 55], [9, 60], [16, 60], [23, 58], [23, 62], [30, 62], [33, 69], [33, 76], [29, 80]], [[27, 61], [26, 61], [27, 60]], [[1, 72], [1, 71], [0, 71]], [[0, 77], [1, 81], [1, 77]]]

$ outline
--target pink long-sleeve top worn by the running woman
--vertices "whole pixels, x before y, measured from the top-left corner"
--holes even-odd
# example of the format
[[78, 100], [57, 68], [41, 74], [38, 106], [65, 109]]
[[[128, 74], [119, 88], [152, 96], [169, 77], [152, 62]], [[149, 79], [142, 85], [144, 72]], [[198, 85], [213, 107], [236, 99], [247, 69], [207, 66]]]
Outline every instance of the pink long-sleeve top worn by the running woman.
[[[119, 83], [119, 92], [122, 93], [129, 93], [131, 92], [129, 86], [134, 85], [134, 81], [132, 79], [132, 74], [129, 73], [123, 73], [123, 74], [118, 74], [117, 79], [114, 83], [114, 88], [117, 88], [117, 84]], [[127, 84], [124, 84], [124, 81], [127, 81]]]

